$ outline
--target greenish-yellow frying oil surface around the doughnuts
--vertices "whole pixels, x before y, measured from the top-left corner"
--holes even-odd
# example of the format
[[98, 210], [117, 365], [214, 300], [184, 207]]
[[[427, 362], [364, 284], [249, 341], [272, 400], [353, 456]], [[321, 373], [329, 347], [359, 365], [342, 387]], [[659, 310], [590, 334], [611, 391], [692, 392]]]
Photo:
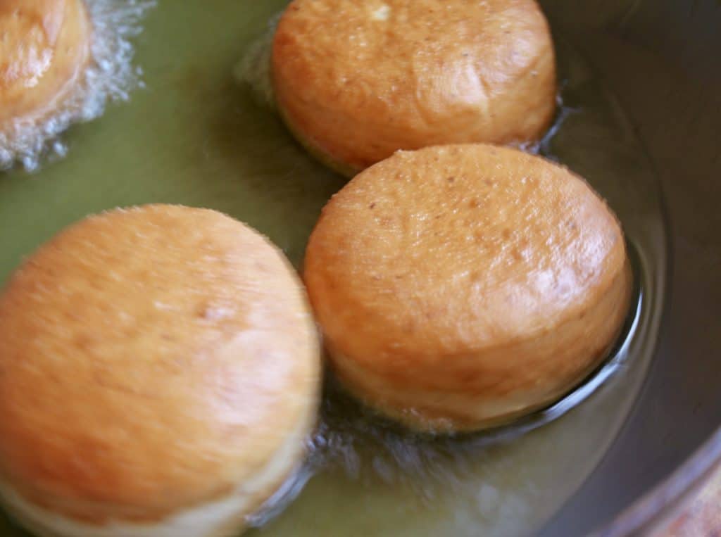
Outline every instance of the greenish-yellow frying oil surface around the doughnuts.
[[[233, 70], [283, 0], [161, 2], [136, 40], [146, 89], [68, 133], [68, 158], [0, 176], [0, 281], [63, 226], [118, 205], [205, 206], [246, 221], [296, 264], [345, 179], [306, 156]], [[653, 351], [663, 211], [640, 142], [593, 71], [559, 47], [562, 121], [539, 151], [609, 200], [637, 258], [640, 302], [609, 378], [563, 417], [506, 441], [412, 438], [330, 386], [309, 478], [251, 536], [508, 536], [539, 528], [615, 438]], [[588, 394], [585, 394], [588, 395]], [[575, 401], [570, 401], [569, 407]], [[501, 439], [504, 440], [504, 439]], [[0, 519], [0, 534], [23, 535]]]

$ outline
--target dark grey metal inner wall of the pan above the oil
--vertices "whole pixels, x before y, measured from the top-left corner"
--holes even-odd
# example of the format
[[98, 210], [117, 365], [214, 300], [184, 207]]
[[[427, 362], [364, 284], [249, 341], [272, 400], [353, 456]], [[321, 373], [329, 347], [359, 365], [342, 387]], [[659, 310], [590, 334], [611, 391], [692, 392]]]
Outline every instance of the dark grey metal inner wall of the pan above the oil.
[[541, 535], [645, 534], [721, 461], [721, 2], [541, 4], [645, 143], [671, 241], [645, 386], [601, 464]]

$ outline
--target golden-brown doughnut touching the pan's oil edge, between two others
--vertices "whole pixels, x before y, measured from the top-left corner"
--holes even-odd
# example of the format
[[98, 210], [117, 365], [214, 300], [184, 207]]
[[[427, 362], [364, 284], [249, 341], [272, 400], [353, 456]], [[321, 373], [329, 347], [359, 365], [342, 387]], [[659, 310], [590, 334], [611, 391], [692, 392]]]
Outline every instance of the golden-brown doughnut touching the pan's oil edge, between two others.
[[355, 177], [324, 208], [304, 278], [341, 381], [434, 431], [570, 391], [632, 293], [622, 229], [582, 179], [481, 144], [399, 151]]

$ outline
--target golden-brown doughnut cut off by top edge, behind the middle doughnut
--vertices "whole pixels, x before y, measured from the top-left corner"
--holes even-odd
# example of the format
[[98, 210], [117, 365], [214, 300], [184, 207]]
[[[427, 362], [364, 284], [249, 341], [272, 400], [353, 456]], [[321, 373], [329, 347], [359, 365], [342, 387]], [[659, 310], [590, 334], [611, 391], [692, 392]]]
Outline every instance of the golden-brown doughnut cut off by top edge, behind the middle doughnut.
[[534, 0], [293, 0], [272, 63], [289, 128], [349, 174], [397, 149], [536, 140], [555, 110]]

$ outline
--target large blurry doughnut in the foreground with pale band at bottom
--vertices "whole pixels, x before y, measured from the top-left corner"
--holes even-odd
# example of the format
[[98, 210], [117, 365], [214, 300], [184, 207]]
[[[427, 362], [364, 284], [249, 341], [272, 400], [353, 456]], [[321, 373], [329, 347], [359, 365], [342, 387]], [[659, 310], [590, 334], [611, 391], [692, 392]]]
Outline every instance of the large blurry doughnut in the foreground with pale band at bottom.
[[251, 228], [87, 218], [0, 296], [0, 497], [40, 535], [226, 536], [301, 463], [319, 362], [295, 272]]

